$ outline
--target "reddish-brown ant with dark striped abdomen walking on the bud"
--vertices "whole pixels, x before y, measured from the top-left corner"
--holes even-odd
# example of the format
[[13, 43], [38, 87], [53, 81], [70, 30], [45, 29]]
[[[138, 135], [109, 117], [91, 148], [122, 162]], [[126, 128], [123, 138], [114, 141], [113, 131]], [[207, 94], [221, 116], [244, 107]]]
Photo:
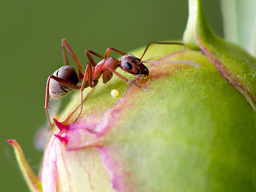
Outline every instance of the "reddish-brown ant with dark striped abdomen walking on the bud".
[[[134, 76], [138, 77], [146, 77], [149, 74], [149, 71], [146, 66], [143, 65], [141, 59], [145, 55], [148, 47], [151, 44], [160, 44], [160, 45], [184, 45], [179, 42], [149, 42], [140, 58], [135, 57], [132, 54], [127, 54], [122, 51], [119, 51], [114, 48], [106, 49], [105, 55], [101, 56], [98, 53], [95, 53], [91, 50], [86, 50], [86, 55], [90, 62], [88, 62], [86, 71], [83, 72], [82, 66], [78, 58], [76, 57], [75, 53], [72, 51], [70, 46], [68, 45], [66, 39], [62, 39], [62, 52], [65, 61], [65, 66], [60, 67], [57, 69], [52, 75], [48, 77], [47, 85], [46, 85], [46, 99], [45, 99], [45, 110], [47, 114], [47, 118], [49, 120], [50, 126], [51, 120], [48, 113], [49, 108], [49, 96], [52, 98], [58, 98], [64, 95], [67, 95], [73, 90], [80, 90], [81, 91], [81, 107], [80, 107], [80, 114], [82, 112], [82, 91], [84, 88], [91, 87], [94, 88], [97, 86], [98, 79], [102, 75], [103, 83], [108, 82], [112, 77], [113, 73], [123, 79], [126, 82], [133, 83], [135, 86], [141, 88], [138, 84], [129, 79], [125, 78], [123, 75], [116, 72], [117, 68], [121, 68], [124, 72], [130, 73]], [[78, 68], [78, 74], [74, 67], [69, 66], [69, 61], [66, 53], [66, 49], [69, 51], [71, 56], [76, 62], [76, 66]], [[121, 59], [118, 60], [116, 58], [110, 57], [110, 52], [114, 51], [121, 55]], [[92, 55], [99, 57], [101, 60], [96, 64]], [[79, 82], [82, 82], [81, 86], [77, 86]], [[141, 88], [142, 89], [142, 88]], [[78, 116], [78, 118], [79, 118]], [[77, 118], [77, 119], [78, 119]]]

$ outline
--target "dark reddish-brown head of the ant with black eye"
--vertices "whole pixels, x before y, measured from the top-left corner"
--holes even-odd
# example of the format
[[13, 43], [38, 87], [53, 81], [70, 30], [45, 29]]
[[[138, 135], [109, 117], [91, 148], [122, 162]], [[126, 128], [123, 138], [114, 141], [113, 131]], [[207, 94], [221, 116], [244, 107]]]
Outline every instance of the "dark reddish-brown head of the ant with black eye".
[[142, 61], [134, 55], [127, 54], [121, 57], [120, 67], [123, 71], [135, 76], [148, 76], [148, 69]]

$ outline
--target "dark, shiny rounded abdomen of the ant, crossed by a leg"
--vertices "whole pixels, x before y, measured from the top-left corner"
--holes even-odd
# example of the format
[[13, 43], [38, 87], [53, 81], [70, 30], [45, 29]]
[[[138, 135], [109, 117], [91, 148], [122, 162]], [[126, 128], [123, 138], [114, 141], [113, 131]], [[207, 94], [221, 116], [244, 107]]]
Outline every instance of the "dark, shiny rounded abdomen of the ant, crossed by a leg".
[[[71, 66], [63, 66], [56, 70], [53, 73], [54, 76], [59, 77], [61, 79], [65, 79], [71, 83], [78, 84], [79, 79], [78, 75], [76, 73], [75, 68]], [[63, 95], [68, 94], [71, 92], [73, 89], [68, 88], [67, 86], [64, 86], [63, 84], [57, 82], [54, 79], [50, 79], [50, 95], [53, 98], [57, 98]]]

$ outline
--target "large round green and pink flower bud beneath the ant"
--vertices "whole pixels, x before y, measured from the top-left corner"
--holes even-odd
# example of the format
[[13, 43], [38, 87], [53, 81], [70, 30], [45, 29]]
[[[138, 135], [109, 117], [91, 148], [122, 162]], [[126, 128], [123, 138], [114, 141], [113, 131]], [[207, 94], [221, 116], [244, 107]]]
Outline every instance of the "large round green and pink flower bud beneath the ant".
[[185, 46], [152, 46], [150, 75], [126, 75], [147, 89], [114, 76], [84, 90], [78, 120], [80, 93], [54, 120], [42, 191], [255, 190], [256, 61], [189, 6]]

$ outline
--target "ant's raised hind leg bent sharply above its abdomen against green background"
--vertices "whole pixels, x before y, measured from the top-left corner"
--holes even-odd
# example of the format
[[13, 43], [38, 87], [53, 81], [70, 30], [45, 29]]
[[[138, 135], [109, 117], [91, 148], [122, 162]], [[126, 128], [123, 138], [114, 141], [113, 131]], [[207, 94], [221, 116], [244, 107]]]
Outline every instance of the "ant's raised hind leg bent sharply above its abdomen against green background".
[[61, 40], [61, 46], [62, 46], [63, 57], [64, 57], [64, 61], [65, 61], [66, 66], [69, 65], [69, 60], [68, 60], [68, 56], [67, 56], [67, 53], [66, 53], [66, 49], [67, 49], [69, 51], [69, 53], [71, 54], [71, 56], [73, 57], [73, 59], [75, 60], [75, 62], [76, 62], [76, 66], [78, 68], [78, 77], [79, 77], [79, 80], [81, 80], [82, 76], [83, 76], [83, 69], [82, 69], [80, 61], [78, 60], [77, 56], [75, 55], [73, 50], [68, 45], [66, 39]]

